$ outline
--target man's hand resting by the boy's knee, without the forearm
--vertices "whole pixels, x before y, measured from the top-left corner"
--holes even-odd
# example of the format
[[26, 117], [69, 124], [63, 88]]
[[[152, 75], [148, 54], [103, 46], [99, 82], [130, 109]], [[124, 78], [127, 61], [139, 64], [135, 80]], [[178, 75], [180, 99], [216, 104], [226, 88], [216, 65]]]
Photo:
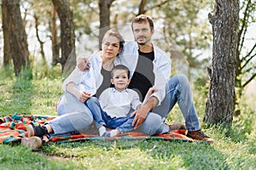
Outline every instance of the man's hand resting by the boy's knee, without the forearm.
[[148, 111], [150, 111], [150, 109], [143, 106], [131, 113], [131, 117], [135, 116], [133, 122], [131, 123], [131, 126], [133, 126], [135, 129], [141, 126], [145, 121], [146, 117], [148, 116]]

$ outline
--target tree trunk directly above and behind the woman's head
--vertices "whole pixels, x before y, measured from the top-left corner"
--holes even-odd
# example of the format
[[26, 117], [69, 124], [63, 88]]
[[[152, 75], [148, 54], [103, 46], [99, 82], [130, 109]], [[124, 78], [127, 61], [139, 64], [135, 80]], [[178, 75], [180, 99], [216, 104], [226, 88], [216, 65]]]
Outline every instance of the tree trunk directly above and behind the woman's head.
[[99, 49], [102, 48], [102, 38], [110, 26], [110, 7], [114, 0], [100, 0], [100, 35], [99, 35]]

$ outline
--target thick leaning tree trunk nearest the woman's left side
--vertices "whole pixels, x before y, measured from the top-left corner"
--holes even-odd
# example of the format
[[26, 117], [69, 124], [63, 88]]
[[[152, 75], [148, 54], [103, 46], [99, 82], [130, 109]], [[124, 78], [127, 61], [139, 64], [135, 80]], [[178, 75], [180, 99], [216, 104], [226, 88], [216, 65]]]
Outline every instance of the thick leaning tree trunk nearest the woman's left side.
[[52, 0], [61, 20], [61, 65], [65, 77], [76, 65], [73, 12], [66, 0]]

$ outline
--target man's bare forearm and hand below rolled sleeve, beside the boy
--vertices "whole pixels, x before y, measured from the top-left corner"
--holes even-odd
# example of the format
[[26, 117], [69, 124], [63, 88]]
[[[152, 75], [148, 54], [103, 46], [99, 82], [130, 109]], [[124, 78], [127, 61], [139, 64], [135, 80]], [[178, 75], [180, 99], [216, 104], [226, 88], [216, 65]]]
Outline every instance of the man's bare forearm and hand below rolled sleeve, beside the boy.
[[131, 116], [134, 116], [134, 120], [131, 123], [131, 125], [136, 129], [137, 127], [139, 127], [146, 119], [146, 117], [148, 116], [148, 112], [153, 110], [154, 107], [158, 104], [159, 100], [154, 97], [151, 96], [148, 101], [142, 105], [141, 108], [137, 109], [137, 111], [134, 111]]

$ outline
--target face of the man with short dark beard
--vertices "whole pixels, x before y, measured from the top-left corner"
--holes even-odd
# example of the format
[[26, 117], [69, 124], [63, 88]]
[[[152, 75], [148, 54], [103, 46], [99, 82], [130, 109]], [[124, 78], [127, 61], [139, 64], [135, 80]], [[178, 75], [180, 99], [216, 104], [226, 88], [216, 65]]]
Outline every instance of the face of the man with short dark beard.
[[150, 42], [152, 35], [154, 34], [154, 30], [150, 30], [150, 26], [148, 22], [143, 23], [133, 23], [133, 35], [135, 41], [139, 45], [145, 45]]

